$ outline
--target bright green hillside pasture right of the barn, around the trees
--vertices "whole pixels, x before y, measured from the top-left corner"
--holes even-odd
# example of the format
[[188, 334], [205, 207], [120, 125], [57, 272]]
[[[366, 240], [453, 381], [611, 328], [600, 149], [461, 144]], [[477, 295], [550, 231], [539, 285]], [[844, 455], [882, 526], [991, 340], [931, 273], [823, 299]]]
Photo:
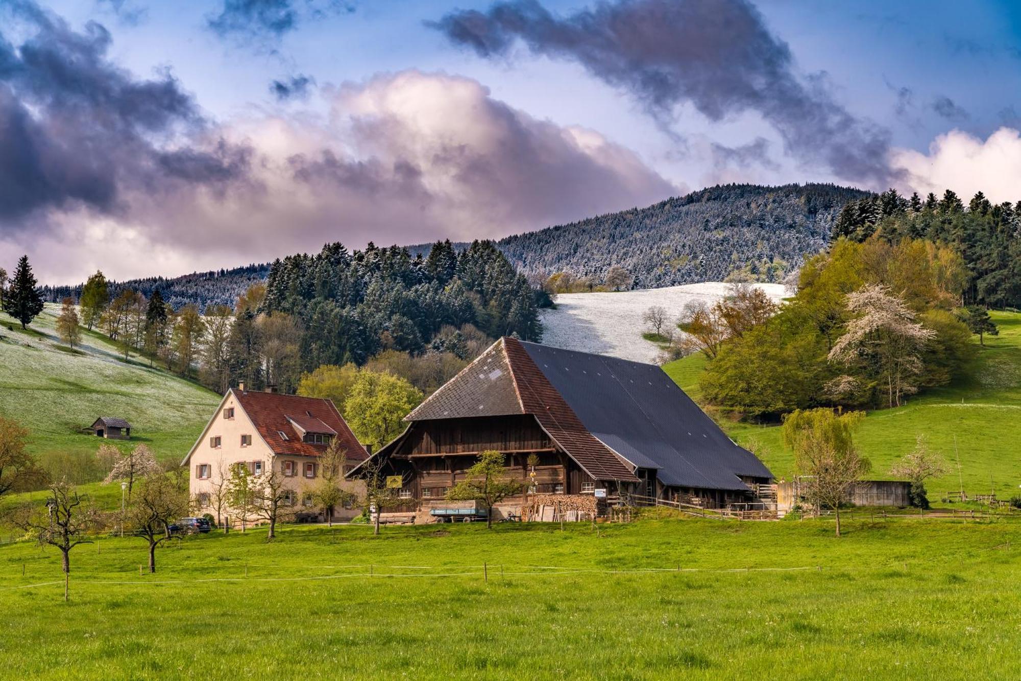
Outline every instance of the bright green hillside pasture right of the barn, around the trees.
[[[991, 316], [1000, 335], [985, 337], [972, 379], [911, 397], [903, 407], [878, 410], [865, 419], [856, 440], [872, 459], [871, 478], [889, 478], [892, 462], [911, 451], [917, 434], [924, 434], [952, 468], [928, 484], [930, 499], [938, 501], [962, 484], [970, 496], [995, 492], [1008, 499], [1021, 494], [1021, 314]], [[704, 366], [704, 358], [695, 355], [664, 369], [697, 400]], [[724, 427], [738, 443], [752, 447], [777, 478], [790, 478], [793, 455], [783, 446], [778, 426], [725, 422]]]

